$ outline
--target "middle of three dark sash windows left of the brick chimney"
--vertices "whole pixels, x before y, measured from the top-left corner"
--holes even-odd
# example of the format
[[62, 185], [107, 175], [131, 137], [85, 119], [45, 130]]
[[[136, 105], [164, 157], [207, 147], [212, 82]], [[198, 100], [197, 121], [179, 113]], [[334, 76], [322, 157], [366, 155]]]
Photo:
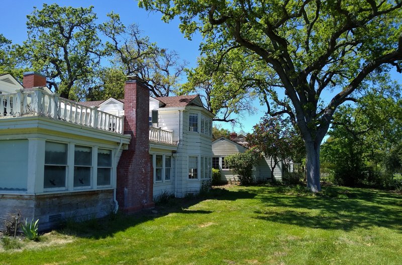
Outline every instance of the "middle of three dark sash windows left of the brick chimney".
[[76, 145], [74, 149], [74, 188], [91, 186], [92, 148]]

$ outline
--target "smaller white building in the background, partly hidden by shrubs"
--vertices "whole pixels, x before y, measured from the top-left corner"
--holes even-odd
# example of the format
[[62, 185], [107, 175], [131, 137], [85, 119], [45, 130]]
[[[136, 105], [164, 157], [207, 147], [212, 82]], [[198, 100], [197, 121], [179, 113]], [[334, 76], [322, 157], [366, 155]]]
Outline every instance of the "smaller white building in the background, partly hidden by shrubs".
[[[221, 181], [238, 181], [238, 175], [234, 173], [225, 163], [225, 157], [231, 154], [243, 153], [248, 149], [247, 141], [244, 135], [232, 133], [231, 139], [220, 137], [212, 142], [212, 166], [221, 171]], [[265, 182], [271, 180], [271, 168], [273, 159], [265, 157], [258, 161], [253, 168], [253, 178], [255, 182]], [[279, 162], [274, 168], [274, 178], [282, 179], [283, 163]]]

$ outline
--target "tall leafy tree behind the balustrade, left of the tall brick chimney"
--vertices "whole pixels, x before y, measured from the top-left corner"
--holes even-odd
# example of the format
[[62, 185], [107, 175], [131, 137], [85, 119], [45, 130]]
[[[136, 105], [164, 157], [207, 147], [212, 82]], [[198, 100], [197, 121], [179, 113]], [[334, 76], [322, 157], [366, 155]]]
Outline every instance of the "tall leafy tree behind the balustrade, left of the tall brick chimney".
[[61, 97], [77, 99], [93, 83], [102, 45], [92, 9], [43, 4], [27, 16], [28, 39], [19, 54]]

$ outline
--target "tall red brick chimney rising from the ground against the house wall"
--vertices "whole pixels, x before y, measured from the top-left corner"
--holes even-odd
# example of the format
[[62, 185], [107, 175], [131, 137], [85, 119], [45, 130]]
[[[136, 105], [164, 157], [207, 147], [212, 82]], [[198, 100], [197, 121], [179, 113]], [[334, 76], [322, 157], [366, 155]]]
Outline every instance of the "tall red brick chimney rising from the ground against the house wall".
[[124, 134], [131, 135], [117, 166], [119, 209], [135, 212], [152, 208], [153, 175], [149, 159], [149, 91], [138, 77], [124, 87]]

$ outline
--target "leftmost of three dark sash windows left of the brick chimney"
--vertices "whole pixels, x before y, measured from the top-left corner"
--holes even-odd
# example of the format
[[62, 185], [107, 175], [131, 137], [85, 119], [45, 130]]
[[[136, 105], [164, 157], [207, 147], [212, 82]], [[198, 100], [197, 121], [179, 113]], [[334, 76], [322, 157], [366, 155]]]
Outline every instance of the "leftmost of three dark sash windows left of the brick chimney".
[[43, 188], [66, 189], [67, 144], [46, 142]]

